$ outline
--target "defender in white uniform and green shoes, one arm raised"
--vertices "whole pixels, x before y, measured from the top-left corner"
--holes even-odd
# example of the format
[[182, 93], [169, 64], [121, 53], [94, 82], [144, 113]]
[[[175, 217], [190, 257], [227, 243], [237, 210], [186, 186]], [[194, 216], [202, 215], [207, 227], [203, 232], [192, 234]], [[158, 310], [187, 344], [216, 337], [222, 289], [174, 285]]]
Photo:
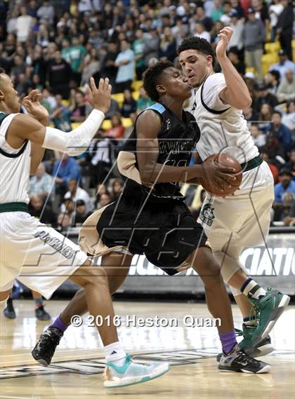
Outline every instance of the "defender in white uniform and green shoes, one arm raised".
[[195, 88], [192, 113], [201, 130], [197, 143], [200, 161], [226, 153], [242, 166], [240, 189], [226, 198], [207, 193], [199, 222], [244, 318], [240, 346], [257, 357], [273, 351], [268, 332], [290, 298], [273, 288], [264, 290], [239, 262], [244, 247], [266, 244], [274, 199], [273, 175], [259, 156], [242, 115], [251, 97], [226, 55], [232, 29], [225, 27], [218, 36], [216, 57], [222, 74], [214, 74], [214, 50], [204, 39], [183, 40], [178, 55], [183, 73]]

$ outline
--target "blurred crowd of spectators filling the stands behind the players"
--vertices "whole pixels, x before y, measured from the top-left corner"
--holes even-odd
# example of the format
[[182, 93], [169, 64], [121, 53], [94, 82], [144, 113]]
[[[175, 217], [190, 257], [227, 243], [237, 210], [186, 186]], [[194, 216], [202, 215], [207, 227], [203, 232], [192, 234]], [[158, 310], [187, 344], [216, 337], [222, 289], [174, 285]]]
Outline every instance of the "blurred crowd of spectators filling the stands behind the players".
[[[110, 78], [114, 93], [85, 154], [46, 151], [30, 181], [32, 215], [66, 229], [117, 195], [118, 151], [136, 116], [152, 104], [142, 87], [145, 69], [162, 59], [177, 65], [186, 36], [215, 47], [218, 32], [229, 25], [228, 56], [252, 97], [244, 118], [275, 180], [273, 221], [294, 226], [293, 21], [288, 0], [0, 0], [0, 67], [22, 97], [32, 88], [41, 91], [53, 126], [70, 131], [86, 119], [90, 76]], [[188, 184], [182, 190], [197, 217], [204, 190]]]

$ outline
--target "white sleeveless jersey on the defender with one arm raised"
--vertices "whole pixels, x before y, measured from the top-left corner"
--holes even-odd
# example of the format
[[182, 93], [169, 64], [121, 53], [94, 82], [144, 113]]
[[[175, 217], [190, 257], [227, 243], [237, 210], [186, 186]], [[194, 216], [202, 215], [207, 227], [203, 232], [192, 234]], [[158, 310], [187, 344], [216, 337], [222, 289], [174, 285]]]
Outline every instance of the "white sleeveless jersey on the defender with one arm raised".
[[244, 163], [258, 156], [258, 149], [242, 111], [223, 104], [219, 98], [225, 87], [223, 74], [213, 74], [195, 93], [191, 112], [201, 130], [197, 151], [202, 161], [224, 151]]

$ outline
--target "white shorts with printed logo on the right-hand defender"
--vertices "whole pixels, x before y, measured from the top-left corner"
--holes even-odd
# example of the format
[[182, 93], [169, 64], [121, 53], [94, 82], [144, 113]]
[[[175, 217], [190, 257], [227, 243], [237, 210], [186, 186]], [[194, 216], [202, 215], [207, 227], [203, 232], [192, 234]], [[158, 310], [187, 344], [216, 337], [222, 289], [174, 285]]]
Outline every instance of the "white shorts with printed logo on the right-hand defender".
[[199, 214], [213, 252], [225, 245], [265, 245], [274, 200], [273, 175], [268, 164], [243, 173], [240, 190], [225, 198], [206, 195]]

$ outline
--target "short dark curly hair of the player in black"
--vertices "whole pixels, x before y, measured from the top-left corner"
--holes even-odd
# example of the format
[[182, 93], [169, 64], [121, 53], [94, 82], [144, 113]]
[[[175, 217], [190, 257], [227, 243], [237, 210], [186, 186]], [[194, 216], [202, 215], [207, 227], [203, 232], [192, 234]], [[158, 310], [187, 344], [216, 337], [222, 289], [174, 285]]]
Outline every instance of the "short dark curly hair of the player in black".
[[152, 67], [147, 68], [143, 75], [143, 88], [152, 101], [159, 101], [159, 93], [156, 86], [159, 84], [159, 76], [165, 69], [173, 67], [170, 61], [159, 61]]

